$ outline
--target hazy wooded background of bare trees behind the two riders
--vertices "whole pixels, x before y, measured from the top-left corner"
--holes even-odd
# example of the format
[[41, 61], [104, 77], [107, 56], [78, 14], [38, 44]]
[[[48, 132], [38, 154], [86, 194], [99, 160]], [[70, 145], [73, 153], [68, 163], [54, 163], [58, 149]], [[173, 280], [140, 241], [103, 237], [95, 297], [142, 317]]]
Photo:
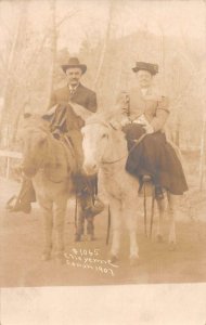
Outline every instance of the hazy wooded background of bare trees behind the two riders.
[[[172, 12], [169, 2], [179, 11]], [[169, 20], [164, 18], [169, 11]], [[169, 31], [172, 28], [176, 32]], [[169, 95], [171, 106], [167, 130], [182, 152], [196, 153], [202, 186], [206, 162], [204, 0], [1, 1], [0, 49], [1, 150], [20, 150], [23, 113], [47, 110], [52, 89], [65, 83], [60, 66], [69, 56], [87, 64], [82, 81], [96, 91], [99, 109], [112, 109], [118, 92], [134, 82], [134, 62], [146, 61], [159, 65], [156, 83]]]

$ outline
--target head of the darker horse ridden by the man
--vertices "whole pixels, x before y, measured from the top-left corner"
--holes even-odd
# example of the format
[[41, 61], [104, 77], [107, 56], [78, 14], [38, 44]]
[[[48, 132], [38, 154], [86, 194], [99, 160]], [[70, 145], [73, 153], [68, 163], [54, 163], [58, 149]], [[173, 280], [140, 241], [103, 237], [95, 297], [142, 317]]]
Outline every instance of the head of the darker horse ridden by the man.
[[26, 115], [21, 133], [23, 143], [23, 171], [34, 177], [41, 167], [47, 152], [49, 126], [37, 115]]

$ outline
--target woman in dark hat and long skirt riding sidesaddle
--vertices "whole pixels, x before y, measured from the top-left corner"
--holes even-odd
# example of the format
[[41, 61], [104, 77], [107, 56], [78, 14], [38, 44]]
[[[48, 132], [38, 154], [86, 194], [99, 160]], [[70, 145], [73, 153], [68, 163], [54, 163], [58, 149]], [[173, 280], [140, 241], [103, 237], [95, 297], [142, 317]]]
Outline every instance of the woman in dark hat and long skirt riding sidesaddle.
[[[188, 190], [183, 169], [164, 133], [169, 102], [153, 87], [158, 65], [137, 62], [132, 70], [136, 73], [137, 86], [118, 98], [121, 125], [128, 150], [131, 151], [126, 170], [139, 178], [140, 186], [152, 179], [156, 199], [164, 198], [163, 187], [171, 194], [182, 195]], [[140, 143], [133, 148], [136, 140], [140, 138]]]

